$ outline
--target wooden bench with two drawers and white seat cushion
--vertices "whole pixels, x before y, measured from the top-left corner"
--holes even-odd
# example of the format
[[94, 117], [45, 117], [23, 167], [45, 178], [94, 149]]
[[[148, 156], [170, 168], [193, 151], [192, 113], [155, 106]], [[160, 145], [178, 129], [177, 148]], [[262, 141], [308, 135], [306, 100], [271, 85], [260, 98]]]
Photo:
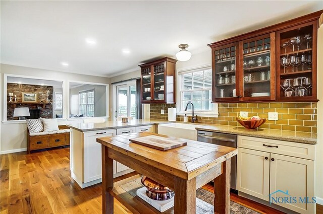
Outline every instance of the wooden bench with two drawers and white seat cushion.
[[27, 129], [28, 154], [33, 150], [70, 145], [70, 128], [59, 125], [58, 131], [43, 131], [30, 133]]

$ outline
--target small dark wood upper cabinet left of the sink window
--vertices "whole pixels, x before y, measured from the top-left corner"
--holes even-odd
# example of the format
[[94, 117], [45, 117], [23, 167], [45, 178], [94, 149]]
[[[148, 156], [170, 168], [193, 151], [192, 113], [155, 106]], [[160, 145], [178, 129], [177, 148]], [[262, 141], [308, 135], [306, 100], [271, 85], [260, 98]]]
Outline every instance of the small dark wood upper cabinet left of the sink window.
[[176, 59], [162, 58], [141, 67], [141, 103], [176, 103]]

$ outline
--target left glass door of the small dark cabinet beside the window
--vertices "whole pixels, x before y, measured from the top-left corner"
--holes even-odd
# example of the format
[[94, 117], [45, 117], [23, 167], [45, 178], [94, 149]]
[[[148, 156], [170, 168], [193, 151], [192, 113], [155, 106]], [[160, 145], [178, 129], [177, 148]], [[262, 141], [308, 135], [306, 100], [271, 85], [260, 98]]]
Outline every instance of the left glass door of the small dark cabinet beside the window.
[[151, 90], [151, 67], [146, 66], [141, 68], [141, 102], [147, 103], [152, 100]]

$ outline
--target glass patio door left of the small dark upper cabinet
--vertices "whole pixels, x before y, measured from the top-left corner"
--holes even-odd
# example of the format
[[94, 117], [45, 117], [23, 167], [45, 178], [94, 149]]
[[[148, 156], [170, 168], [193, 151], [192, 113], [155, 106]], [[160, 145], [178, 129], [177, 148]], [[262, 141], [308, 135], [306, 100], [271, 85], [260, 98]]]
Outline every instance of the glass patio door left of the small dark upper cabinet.
[[133, 117], [133, 119], [136, 119], [136, 82], [131, 81], [116, 86], [116, 91], [115, 117]]

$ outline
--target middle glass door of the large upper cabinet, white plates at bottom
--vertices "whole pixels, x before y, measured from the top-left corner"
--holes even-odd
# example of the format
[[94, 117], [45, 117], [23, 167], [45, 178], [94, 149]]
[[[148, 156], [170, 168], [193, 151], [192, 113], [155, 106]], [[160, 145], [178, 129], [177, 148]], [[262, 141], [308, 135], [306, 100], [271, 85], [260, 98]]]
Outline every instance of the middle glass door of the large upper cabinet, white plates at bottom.
[[243, 101], [275, 100], [275, 33], [240, 41]]

